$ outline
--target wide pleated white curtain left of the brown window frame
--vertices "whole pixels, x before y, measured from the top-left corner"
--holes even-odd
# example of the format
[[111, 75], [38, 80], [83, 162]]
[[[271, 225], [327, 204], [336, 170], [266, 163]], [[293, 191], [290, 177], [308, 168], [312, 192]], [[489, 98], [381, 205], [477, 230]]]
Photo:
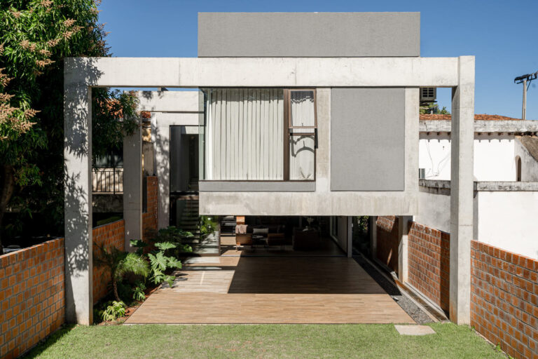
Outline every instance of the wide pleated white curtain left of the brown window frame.
[[282, 89], [208, 90], [206, 111], [205, 179], [283, 178]]

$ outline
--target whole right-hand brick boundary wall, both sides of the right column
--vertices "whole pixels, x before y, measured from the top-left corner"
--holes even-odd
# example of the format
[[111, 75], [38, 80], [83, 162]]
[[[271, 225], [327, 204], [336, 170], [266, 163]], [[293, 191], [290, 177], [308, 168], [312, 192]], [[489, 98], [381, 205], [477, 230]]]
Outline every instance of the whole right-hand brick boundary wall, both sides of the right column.
[[[450, 235], [411, 222], [408, 281], [448, 311]], [[513, 358], [538, 359], [538, 261], [471, 241], [471, 325]]]

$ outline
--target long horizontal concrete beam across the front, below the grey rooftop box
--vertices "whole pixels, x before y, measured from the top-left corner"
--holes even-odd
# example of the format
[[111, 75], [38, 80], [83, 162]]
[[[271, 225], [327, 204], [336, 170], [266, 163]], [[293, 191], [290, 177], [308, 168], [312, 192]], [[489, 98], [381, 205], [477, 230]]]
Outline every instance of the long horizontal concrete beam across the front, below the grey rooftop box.
[[457, 57], [68, 57], [65, 83], [101, 87], [457, 86]]

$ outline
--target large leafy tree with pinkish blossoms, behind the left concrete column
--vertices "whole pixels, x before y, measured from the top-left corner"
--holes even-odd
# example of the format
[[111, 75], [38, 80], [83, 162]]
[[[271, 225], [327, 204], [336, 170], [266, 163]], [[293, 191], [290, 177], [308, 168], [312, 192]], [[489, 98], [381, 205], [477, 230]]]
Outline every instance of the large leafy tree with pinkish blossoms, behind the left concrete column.
[[[95, 0], [0, 2], [3, 233], [17, 231], [35, 212], [46, 216], [50, 226], [44, 230], [63, 232], [63, 58], [109, 55], [97, 5]], [[106, 88], [92, 93], [98, 155], [120, 147], [123, 136], [135, 129], [136, 99]], [[4, 225], [7, 208], [20, 215]]]

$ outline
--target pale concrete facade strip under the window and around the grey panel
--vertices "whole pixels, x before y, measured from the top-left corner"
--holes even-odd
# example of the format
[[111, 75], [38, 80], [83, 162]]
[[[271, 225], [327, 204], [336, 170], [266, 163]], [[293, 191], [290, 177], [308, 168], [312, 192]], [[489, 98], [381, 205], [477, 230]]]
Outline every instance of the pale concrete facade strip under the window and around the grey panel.
[[[205, 191], [210, 182], [200, 181], [200, 214], [202, 215], [339, 215], [357, 214], [413, 215], [418, 212], [418, 88], [403, 91], [405, 109], [403, 191], [331, 191], [331, 89], [317, 88], [318, 147], [316, 152], [315, 191], [312, 184], [298, 182], [303, 191], [275, 191], [286, 186], [261, 182], [256, 191], [231, 191], [240, 182], [228, 182], [229, 191]], [[349, 156], [348, 156], [349, 157]], [[264, 186], [265, 191], [261, 190]], [[220, 184], [219, 184], [220, 185]], [[251, 184], [251, 186], [254, 184]], [[249, 187], [244, 187], [248, 189]]]

